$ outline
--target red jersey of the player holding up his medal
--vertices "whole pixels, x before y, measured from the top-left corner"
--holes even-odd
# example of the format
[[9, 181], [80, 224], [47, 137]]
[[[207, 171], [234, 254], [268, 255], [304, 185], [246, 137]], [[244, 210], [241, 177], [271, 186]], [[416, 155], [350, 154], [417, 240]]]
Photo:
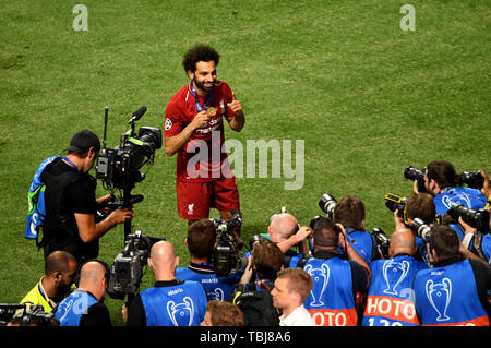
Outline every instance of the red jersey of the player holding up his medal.
[[[227, 109], [227, 104], [233, 99], [232, 92], [225, 82], [216, 81], [209, 100], [208, 96], [196, 96], [201, 108], [205, 109], [207, 105], [207, 109], [215, 108], [216, 113], [208, 123], [195, 130], [178, 152], [177, 180], [207, 182], [231, 177], [227, 153], [221, 149], [225, 142], [223, 116], [233, 117], [233, 112]], [[167, 105], [164, 135], [179, 134], [194, 119], [197, 107], [191, 84], [179, 89]]]

